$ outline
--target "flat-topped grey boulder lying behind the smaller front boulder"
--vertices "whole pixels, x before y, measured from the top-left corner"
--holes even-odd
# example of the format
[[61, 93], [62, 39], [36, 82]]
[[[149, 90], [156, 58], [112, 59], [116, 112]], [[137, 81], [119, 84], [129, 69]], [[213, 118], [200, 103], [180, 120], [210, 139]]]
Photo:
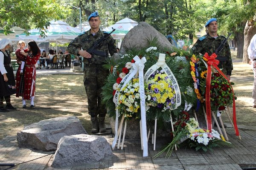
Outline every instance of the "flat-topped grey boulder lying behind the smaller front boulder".
[[56, 117], [25, 126], [17, 133], [20, 147], [56, 150], [63, 136], [87, 134], [76, 116]]

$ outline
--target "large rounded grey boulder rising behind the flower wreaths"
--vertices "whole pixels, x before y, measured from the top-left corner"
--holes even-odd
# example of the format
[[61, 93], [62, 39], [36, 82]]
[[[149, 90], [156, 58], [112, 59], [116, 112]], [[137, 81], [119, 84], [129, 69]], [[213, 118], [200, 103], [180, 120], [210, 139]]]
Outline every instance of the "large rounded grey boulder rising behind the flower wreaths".
[[172, 44], [163, 34], [148, 23], [140, 22], [125, 35], [119, 53], [114, 54], [113, 57], [120, 57], [131, 48], [145, 48], [147, 47], [147, 40], [153, 40], [154, 38], [161, 44], [161, 48], [172, 48]]

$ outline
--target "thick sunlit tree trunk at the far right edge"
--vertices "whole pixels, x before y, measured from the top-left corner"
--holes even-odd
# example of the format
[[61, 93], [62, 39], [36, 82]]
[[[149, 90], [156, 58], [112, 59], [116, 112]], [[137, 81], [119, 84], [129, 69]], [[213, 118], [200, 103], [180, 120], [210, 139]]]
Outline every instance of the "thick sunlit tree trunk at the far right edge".
[[250, 40], [252, 39], [253, 35], [256, 34], [256, 26], [255, 21], [253, 19], [248, 20], [245, 28], [244, 28], [244, 55], [243, 55], [243, 63], [248, 63], [248, 53], [247, 48], [250, 44]]

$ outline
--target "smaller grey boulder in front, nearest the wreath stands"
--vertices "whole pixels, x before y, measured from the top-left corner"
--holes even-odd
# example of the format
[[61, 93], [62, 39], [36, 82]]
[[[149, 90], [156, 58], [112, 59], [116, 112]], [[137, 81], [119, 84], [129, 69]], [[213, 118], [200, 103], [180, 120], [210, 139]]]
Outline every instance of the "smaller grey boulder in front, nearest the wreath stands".
[[58, 143], [52, 167], [91, 163], [112, 155], [110, 144], [102, 136], [85, 134], [64, 136]]

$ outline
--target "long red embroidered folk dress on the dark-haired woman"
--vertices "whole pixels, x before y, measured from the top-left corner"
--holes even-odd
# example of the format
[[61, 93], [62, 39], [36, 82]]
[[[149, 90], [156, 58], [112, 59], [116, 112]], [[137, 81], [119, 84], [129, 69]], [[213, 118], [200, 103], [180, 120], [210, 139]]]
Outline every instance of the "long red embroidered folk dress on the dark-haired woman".
[[[24, 51], [28, 52], [29, 50], [25, 49]], [[29, 100], [30, 96], [35, 96], [35, 64], [37, 63], [39, 57], [40, 52], [35, 56], [32, 53], [28, 54], [26, 57], [23, 75], [20, 75], [19, 67], [16, 75], [16, 97], [23, 96], [25, 100]], [[21, 81], [22, 76], [24, 76], [24, 82]]]

